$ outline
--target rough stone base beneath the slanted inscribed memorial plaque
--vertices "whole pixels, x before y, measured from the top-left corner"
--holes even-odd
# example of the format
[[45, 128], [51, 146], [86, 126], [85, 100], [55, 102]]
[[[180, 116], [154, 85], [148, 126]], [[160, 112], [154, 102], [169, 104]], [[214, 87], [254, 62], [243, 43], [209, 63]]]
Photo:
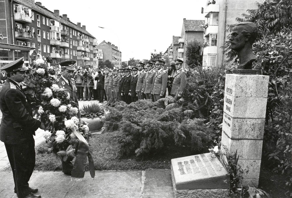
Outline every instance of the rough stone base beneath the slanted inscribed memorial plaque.
[[171, 178], [175, 198], [229, 198], [228, 189], [194, 189], [194, 190], [177, 190], [171, 170]]

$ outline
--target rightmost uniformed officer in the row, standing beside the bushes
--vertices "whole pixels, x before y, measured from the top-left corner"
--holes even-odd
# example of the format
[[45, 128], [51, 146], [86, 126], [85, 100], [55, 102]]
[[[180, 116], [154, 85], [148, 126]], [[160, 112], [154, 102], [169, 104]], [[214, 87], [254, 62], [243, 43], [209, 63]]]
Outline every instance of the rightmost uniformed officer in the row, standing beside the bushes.
[[171, 88], [171, 96], [175, 98], [176, 100], [179, 100], [183, 92], [185, 91], [185, 86], [186, 86], [186, 74], [185, 71], [182, 68], [183, 61], [180, 59], [175, 59], [175, 68], [176, 71], [173, 74], [173, 84]]

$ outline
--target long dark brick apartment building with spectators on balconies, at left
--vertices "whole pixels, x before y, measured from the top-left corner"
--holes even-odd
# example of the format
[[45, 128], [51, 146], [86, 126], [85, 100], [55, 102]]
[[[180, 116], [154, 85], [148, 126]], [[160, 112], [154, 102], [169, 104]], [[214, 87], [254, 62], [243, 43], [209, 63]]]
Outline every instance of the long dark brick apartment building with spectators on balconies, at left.
[[58, 62], [69, 59], [77, 60], [76, 67], [98, 64], [94, 51], [97, 41], [85, 25], [74, 24], [66, 14], [60, 16], [59, 10], [51, 12], [34, 0], [3, 0], [0, 4], [0, 31], [7, 32], [0, 44], [29, 48], [28, 61], [32, 49], [42, 56], [50, 55], [51, 65], [56, 67]]

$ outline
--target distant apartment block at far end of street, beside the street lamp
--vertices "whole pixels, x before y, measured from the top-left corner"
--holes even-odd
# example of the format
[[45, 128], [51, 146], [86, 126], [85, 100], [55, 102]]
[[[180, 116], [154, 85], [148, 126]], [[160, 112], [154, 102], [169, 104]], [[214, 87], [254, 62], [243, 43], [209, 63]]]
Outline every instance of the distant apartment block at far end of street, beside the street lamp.
[[106, 61], [109, 60], [114, 64], [115, 68], [121, 68], [121, 57], [122, 53], [119, 51], [118, 47], [114, 44], [106, 41], [102, 41], [97, 46], [98, 50], [101, 50], [102, 52], [102, 60]]

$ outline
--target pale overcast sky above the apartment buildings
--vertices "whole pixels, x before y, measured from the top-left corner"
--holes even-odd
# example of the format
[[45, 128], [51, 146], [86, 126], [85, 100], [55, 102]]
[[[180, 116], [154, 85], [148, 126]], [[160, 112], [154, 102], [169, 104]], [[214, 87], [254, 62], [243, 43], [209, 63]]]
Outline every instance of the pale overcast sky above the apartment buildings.
[[[156, 49], [164, 53], [172, 36], [180, 36], [183, 18], [204, 20], [206, 0], [35, 0], [48, 10], [60, 10], [73, 23], [81, 22], [98, 44], [120, 47], [122, 61], [150, 59]], [[101, 29], [98, 26], [108, 29]], [[119, 38], [119, 39], [118, 39]]]

